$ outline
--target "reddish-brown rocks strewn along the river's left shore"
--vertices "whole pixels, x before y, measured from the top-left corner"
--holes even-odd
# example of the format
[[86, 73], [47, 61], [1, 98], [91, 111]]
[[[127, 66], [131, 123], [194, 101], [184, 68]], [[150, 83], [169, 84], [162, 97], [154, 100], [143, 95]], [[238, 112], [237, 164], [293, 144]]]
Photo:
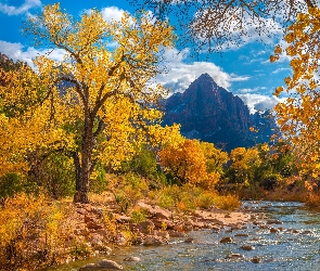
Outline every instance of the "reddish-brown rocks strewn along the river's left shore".
[[[73, 244], [82, 244], [84, 250], [89, 251], [85, 257], [97, 255], [110, 255], [113, 248], [127, 245], [159, 246], [167, 244], [175, 237], [193, 243], [188, 232], [201, 229], [212, 229], [218, 232], [222, 229], [234, 231], [246, 229], [252, 216], [245, 211], [226, 211], [218, 208], [197, 209], [188, 214], [178, 210], [168, 210], [145, 201], [140, 201], [137, 206], [146, 214], [145, 220], [139, 223], [132, 221], [132, 217], [125, 214], [113, 212], [104, 206], [94, 204], [76, 204], [68, 220], [74, 224], [74, 232], [69, 238]], [[106, 221], [107, 219], [110, 221]], [[111, 222], [114, 221], [114, 223]], [[230, 242], [221, 240], [222, 242]], [[80, 259], [81, 255], [69, 254], [66, 262]], [[107, 257], [106, 257], [107, 258]], [[140, 260], [137, 257], [126, 259]], [[104, 259], [97, 263], [84, 266], [80, 270], [110, 270], [121, 269], [112, 260]]]

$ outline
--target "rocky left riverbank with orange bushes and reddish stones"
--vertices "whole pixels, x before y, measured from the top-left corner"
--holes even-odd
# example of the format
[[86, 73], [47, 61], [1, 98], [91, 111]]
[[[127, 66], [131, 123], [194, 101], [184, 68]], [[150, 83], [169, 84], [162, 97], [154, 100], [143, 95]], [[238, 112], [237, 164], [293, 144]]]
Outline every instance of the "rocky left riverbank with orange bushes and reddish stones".
[[[234, 205], [232, 198], [222, 206]], [[131, 245], [165, 245], [175, 237], [192, 243], [187, 235], [192, 230], [241, 229], [249, 219], [244, 211], [214, 206], [164, 208], [148, 197], [124, 209], [116, 199], [114, 192], [92, 194], [90, 204], [24, 194], [8, 199], [0, 212], [1, 270], [42, 269]]]

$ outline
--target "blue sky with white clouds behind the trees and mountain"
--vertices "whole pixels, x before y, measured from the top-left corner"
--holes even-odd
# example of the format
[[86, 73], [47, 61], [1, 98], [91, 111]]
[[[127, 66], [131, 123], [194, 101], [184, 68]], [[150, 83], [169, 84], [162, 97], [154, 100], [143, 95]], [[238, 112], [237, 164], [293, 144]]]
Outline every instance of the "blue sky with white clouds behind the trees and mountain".
[[[121, 16], [124, 11], [133, 14], [135, 7], [128, 0], [61, 0], [62, 9], [75, 16], [86, 10], [98, 8], [106, 21]], [[0, 0], [0, 52], [13, 60], [31, 63], [31, 59], [46, 52], [46, 48], [34, 48], [28, 38], [21, 33], [23, 21], [28, 15], [41, 12], [43, 5], [55, 3], [50, 0]], [[271, 29], [272, 30], [272, 29]], [[274, 30], [276, 31], [276, 30]], [[181, 34], [178, 34], [181, 35]], [[257, 37], [244, 37], [242, 46], [226, 49], [221, 54], [201, 53], [199, 59], [191, 57], [192, 48], [178, 46], [166, 51], [169, 73], [159, 75], [157, 80], [171, 88], [172, 92], [183, 91], [201, 74], [209, 74], [216, 82], [238, 94], [249, 109], [271, 108], [279, 99], [272, 96], [273, 90], [283, 85], [283, 78], [291, 75], [287, 57], [270, 63], [274, 46], [281, 41], [282, 31], [277, 30], [274, 39], [261, 37], [265, 43], [255, 41]], [[54, 51], [51, 56], [61, 59], [63, 52]]]

